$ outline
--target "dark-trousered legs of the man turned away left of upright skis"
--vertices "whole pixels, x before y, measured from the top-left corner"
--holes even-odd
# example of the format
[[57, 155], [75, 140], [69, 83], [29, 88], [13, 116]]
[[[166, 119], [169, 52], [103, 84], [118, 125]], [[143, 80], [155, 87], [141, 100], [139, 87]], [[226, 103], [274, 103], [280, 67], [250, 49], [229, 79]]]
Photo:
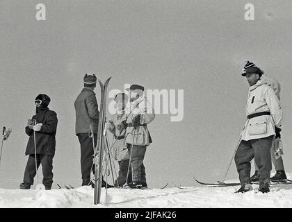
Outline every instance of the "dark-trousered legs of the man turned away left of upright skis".
[[[81, 146], [81, 175], [82, 185], [88, 185], [90, 182], [90, 171], [93, 160], [93, 145], [92, 138], [88, 137], [88, 133], [78, 134], [79, 143]], [[94, 166], [92, 167], [94, 169]], [[93, 170], [94, 171], [94, 170]]]

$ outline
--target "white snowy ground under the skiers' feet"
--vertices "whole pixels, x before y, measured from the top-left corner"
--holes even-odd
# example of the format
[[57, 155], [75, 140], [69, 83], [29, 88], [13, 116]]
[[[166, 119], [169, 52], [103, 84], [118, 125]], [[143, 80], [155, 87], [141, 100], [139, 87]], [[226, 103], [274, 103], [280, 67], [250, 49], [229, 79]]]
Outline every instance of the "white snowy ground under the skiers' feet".
[[[289, 174], [292, 178], [292, 173]], [[236, 180], [232, 180], [236, 181]], [[0, 189], [0, 207], [292, 207], [292, 185], [273, 185], [270, 193], [239, 187], [177, 187], [165, 189], [102, 189], [102, 204], [93, 205], [94, 189]]]

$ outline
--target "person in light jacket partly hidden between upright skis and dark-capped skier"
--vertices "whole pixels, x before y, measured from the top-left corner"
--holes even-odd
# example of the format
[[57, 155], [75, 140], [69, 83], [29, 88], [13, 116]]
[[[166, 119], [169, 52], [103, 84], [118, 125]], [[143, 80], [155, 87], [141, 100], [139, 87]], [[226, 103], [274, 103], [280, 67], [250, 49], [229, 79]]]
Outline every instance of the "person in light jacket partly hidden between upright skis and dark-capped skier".
[[126, 128], [123, 123], [126, 120], [124, 108], [128, 101], [128, 96], [124, 93], [116, 94], [114, 101], [116, 111], [115, 114], [108, 118], [108, 130], [113, 133], [115, 139], [113, 144], [114, 158], [117, 160], [120, 168], [117, 180], [115, 181], [115, 187], [122, 187], [126, 182], [129, 184], [132, 181], [131, 167], [129, 168], [129, 153], [124, 137]]

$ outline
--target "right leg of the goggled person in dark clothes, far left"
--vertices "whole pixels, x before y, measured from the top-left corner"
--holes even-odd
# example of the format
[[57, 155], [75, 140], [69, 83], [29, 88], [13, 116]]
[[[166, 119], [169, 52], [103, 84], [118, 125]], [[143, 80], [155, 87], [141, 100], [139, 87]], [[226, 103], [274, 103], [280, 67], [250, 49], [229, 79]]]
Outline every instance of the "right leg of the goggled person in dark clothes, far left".
[[46, 189], [51, 189], [53, 184], [53, 157], [52, 155], [41, 155], [40, 162], [42, 162], [42, 184]]

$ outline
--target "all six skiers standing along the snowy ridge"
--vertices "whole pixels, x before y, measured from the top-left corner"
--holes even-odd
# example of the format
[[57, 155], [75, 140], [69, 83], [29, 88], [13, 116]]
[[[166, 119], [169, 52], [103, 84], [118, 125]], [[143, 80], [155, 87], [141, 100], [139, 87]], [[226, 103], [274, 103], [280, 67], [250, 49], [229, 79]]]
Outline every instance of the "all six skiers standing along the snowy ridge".
[[[250, 191], [253, 189], [252, 182], [259, 181], [259, 191], [266, 193], [270, 191], [270, 180], [286, 179], [282, 151], [277, 147], [282, 126], [280, 85], [277, 80], [263, 74], [259, 67], [249, 61], [246, 62], [241, 75], [246, 77], [250, 88], [245, 108], [248, 120], [241, 131], [234, 156], [241, 182], [241, 188], [237, 192]], [[83, 84], [84, 88], [74, 102], [75, 133], [81, 146], [81, 185], [94, 187], [95, 183], [90, 179], [90, 174], [91, 172], [95, 174], [93, 157], [99, 126], [99, 108], [94, 92], [97, 77], [95, 74], [86, 74]], [[143, 160], [147, 146], [152, 143], [147, 124], [154, 120], [154, 110], [147, 101], [144, 87], [141, 85], [131, 85], [129, 91], [116, 94], [114, 101], [115, 114], [106, 118], [106, 130], [114, 139], [107, 155], [113, 151], [120, 169], [114, 185], [108, 185], [102, 178], [102, 187], [125, 185], [131, 188], [147, 187]], [[29, 155], [29, 159], [24, 172], [24, 182], [20, 185], [21, 189], [29, 189], [33, 185], [33, 178], [40, 164], [44, 176], [42, 183], [45, 189], [51, 189], [58, 119], [56, 112], [49, 110], [49, 102], [50, 98], [45, 94], [39, 94], [35, 98], [36, 112], [26, 126], [26, 134], [29, 135], [26, 155]], [[255, 173], [251, 177], [252, 159]], [[270, 178], [272, 162], [276, 174]]]

